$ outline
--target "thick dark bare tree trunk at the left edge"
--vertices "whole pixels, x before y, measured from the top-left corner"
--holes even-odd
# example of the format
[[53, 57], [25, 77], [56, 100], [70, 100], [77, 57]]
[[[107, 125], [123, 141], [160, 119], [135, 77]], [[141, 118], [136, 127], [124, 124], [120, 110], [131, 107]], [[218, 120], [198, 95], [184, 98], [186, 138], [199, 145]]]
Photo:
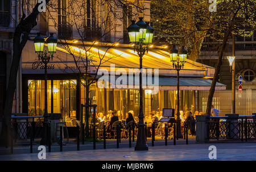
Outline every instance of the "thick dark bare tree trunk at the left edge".
[[[46, 4], [49, 0], [46, 1]], [[6, 100], [5, 106], [3, 109], [3, 125], [2, 125], [2, 133], [0, 137], [1, 144], [9, 144], [10, 140], [10, 131], [11, 131], [11, 113], [13, 109], [13, 98], [16, 89], [16, 78], [19, 68], [20, 56], [22, 54], [22, 50], [26, 45], [28, 40], [28, 35], [32, 28], [35, 27], [36, 18], [38, 17], [40, 3], [37, 3], [33, 8], [33, 11], [30, 15], [25, 18], [25, 14], [23, 14], [20, 19], [20, 23], [15, 28], [14, 38], [13, 38], [13, 61], [11, 63], [9, 82], [6, 90]]]

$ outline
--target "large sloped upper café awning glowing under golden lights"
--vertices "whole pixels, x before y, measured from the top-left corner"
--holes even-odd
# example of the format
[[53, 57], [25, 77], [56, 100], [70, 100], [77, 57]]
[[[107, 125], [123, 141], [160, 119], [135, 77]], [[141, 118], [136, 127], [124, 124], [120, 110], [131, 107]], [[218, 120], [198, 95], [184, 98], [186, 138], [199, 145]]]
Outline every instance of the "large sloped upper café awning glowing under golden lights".
[[[88, 46], [89, 47], [89, 46]], [[72, 45], [70, 47], [75, 55], [71, 55], [65, 49], [64, 45], [58, 44], [56, 53], [52, 61], [48, 63], [49, 74], [77, 73], [79, 70], [75, 65], [74, 59], [81, 72], [85, 72], [85, 51], [79, 46]], [[94, 46], [89, 47], [86, 51], [90, 60], [90, 73], [96, 74], [96, 68], [100, 64], [99, 59], [104, 58], [100, 68], [110, 71], [111, 66], [115, 66], [115, 70], [123, 68], [139, 68], [139, 57], [133, 47], [129, 45], [113, 46]], [[46, 49], [46, 48], [45, 48]], [[100, 57], [100, 58], [99, 58]], [[150, 48], [143, 56], [143, 68], [157, 68], [159, 76], [176, 76], [177, 72], [170, 62], [170, 54], [167, 49]], [[42, 63], [38, 60], [34, 50], [32, 41], [27, 41], [22, 52], [22, 73], [23, 74], [43, 74]], [[214, 68], [203, 65], [198, 62], [187, 59], [184, 68], [180, 70], [180, 76], [185, 77], [209, 77], [214, 75]]]

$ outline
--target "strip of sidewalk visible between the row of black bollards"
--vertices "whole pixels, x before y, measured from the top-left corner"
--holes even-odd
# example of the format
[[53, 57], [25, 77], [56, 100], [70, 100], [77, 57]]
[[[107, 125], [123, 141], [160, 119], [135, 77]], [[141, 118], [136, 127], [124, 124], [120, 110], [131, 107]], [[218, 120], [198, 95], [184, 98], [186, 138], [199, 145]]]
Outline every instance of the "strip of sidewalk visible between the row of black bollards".
[[[147, 144], [148, 147], [152, 147], [151, 145], [151, 138], [147, 139]], [[196, 143], [196, 139], [195, 136], [189, 136], [188, 137], [188, 144], [195, 144]], [[134, 140], [134, 142], [131, 143], [131, 147], [134, 149], [136, 144], [136, 139]], [[162, 139], [156, 139], [154, 141], [154, 146], [160, 146], [160, 145], [164, 145], [165, 141]], [[173, 145], [174, 141], [173, 140], [167, 140], [167, 144], [168, 145]], [[179, 139], [176, 140], [176, 145], [180, 145], [180, 144], [186, 144], [184, 139]], [[33, 145], [33, 153], [38, 152], [38, 147], [39, 147], [39, 143], [36, 145]], [[47, 148], [47, 152], [48, 152], [48, 147]], [[113, 149], [113, 148], [117, 148], [117, 140], [106, 140], [106, 149]], [[123, 148], [129, 148], [129, 140], [125, 139], [125, 140], [121, 140], [121, 143], [119, 143], [119, 149], [123, 149]], [[14, 144], [14, 154], [26, 154], [26, 153], [30, 153], [30, 145], [15, 145]], [[97, 149], [104, 149], [104, 145], [103, 145], [103, 140], [102, 142], [96, 142], [96, 150]], [[82, 143], [80, 142], [80, 151], [84, 151], [84, 150], [93, 150], [93, 142], [85, 142], [84, 145], [82, 145]], [[67, 145], [63, 145], [63, 152], [66, 151], [77, 151], [77, 142], [74, 140], [69, 141], [69, 143]], [[53, 143], [51, 146], [51, 152], [60, 152], [60, 146], [57, 143]], [[0, 148], [0, 155], [4, 155], [4, 154], [10, 154], [10, 148], [4, 148], [1, 147]]]

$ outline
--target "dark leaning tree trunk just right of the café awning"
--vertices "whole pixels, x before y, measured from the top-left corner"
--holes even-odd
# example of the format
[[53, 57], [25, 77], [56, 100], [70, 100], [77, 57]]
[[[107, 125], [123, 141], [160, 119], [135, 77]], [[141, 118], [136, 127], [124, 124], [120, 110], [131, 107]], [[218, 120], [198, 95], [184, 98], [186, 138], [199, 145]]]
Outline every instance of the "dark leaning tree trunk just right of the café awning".
[[212, 108], [213, 94], [214, 94], [215, 86], [216, 86], [216, 83], [217, 83], [217, 80], [218, 80], [218, 74], [220, 74], [220, 69], [221, 69], [221, 65], [222, 65], [223, 52], [226, 48], [226, 42], [229, 40], [229, 36], [230, 36], [231, 32], [232, 32], [232, 26], [230, 26], [228, 28], [228, 30], [226, 31], [225, 36], [224, 36], [224, 40], [222, 41], [222, 45], [221, 45], [221, 47], [219, 49], [219, 52], [218, 52], [218, 62], [217, 62], [217, 66], [215, 68], [215, 73], [214, 73], [214, 76], [213, 76], [212, 85], [210, 86], [209, 96], [208, 96], [208, 101], [207, 101], [207, 111], [206, 111], [207, 115], [210, 115], [210, 110]]

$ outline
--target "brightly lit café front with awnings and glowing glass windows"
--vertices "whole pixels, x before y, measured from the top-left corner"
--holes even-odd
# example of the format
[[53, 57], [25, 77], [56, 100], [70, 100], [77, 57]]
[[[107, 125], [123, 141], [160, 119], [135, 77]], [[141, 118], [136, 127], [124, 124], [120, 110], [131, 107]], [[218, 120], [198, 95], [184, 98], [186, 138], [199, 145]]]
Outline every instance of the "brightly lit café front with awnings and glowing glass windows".
[[[44, 70], [36, 59], [36, 53], [29, 48], [29, 44], [31, 42], [25, 46], [22, 54], [22, 110], [28, 115], [43, 115]], [[115, 84], [113, 80], [101, 80], [101, 75], [98, 73], [99, 80], [89, 87], [90, 103], [96, 104], [97, 113], [103, 113], [106, 117], [112, 110], [117, 113], [119, 119], [126, 119], [126, 113], [133, 110], [134, 117], [137, 118], [139, 113], [138, 78], [135, 75], [127, 77], [127, 81], [133, 80], [131, 85], [127, 82], [122, 87], [118, 87], [116, 83], [121, 76], [117, 74], [117, 71], [128, 72], [130, 68], [138, 68], [139, 59], [132, 48], [114, 48], [111, 52], [117, 53], [118, 56], [105, 63], [104, 66], [102, 65], [102, 68], [113, 71], [111, 67], [114, 64]], [[49, 62], [48, 67], [48, 113], [61, 113], [61, 120], [66, 122], [67, 126], [74, 126], [75, 120], [80, 120], [80, 105], [85, 104], [85, 81], [81, 77], [82, 74], [76, 71], [75, 62], [72, 61], [70, 54], [57, 50], [55, 56], [53, 61]], [[149, 50], [143, 59], [143, 67], [146, 71], [153, 69], [152, 81], [158, 86], [150, 87], [148, 83], [143, 85], [145, 118], [150, 113], [162, 111], [163, 108], [177, 109], [176, 74], [168, 53], [162, 49]], [[199, 109], [199, 92], [209, 90], [210, 78], [213, 74], [214, 68], [188, 60], [180, 72], [181, 111], [194, 113]], [[148, 78], [150, 75], [145, 77]], [[102, 87], [102, 83], [110, 87]], [[216, 90], [223, 89], [225, 85], [217, 83]]]

